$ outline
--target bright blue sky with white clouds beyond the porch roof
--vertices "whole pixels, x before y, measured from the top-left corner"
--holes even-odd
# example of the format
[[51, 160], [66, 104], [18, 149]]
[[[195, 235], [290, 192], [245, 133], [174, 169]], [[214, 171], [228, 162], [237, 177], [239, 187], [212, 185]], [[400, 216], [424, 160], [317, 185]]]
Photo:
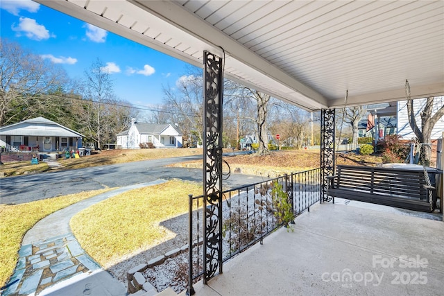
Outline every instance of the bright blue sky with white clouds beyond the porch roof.
[[97, 58], [107, 65], [115, 94], [133, 105], [162, 103], [162, 85], [173, 87], [187, 63], [31, 0], [0, 0], [1, 37], [83, 78]]

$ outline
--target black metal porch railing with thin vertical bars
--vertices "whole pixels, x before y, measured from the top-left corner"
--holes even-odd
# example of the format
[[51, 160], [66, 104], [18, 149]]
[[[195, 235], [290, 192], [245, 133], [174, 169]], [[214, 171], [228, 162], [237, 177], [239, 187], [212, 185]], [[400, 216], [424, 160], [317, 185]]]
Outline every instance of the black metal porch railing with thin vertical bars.
[[[298, 216], [321, 202], [321, 168], [291, 173], [255, 184], [223, 191], [222, 259], [227, 261], [282, 226], [276, 215], [272, 189], [278, 182], [287, 192], [293, 214]], [[189, 195], [189, 286], [204, 272], [203, 195]]]

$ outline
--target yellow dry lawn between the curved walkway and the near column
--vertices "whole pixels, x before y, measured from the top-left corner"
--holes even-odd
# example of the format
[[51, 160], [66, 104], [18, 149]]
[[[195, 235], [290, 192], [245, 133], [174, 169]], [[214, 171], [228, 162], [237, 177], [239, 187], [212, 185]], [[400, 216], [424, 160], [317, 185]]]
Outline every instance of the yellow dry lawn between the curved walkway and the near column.
[[186, 214], [188, 194], [201, 192], [201, 184], [180, 180], [134, 189], [81, 211], [71, 219], [71, 229], [83, 249], [109, 268], [173, 238], [160, 223]]

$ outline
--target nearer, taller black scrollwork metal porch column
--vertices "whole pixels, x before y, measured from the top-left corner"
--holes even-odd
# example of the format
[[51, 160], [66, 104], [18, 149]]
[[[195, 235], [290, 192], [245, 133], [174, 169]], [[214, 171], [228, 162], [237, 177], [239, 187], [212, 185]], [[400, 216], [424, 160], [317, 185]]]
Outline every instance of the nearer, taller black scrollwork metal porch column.
[[203, 282], [222, 273], [222, 58], [204, 51]]

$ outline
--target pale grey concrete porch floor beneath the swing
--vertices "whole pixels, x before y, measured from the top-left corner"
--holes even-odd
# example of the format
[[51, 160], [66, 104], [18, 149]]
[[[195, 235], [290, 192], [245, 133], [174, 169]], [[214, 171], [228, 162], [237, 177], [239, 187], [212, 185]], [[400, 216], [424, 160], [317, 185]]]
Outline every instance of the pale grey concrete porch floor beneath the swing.
[[316, 204], [196, 295], [444, 295], [444, 223], [386, 208]]

